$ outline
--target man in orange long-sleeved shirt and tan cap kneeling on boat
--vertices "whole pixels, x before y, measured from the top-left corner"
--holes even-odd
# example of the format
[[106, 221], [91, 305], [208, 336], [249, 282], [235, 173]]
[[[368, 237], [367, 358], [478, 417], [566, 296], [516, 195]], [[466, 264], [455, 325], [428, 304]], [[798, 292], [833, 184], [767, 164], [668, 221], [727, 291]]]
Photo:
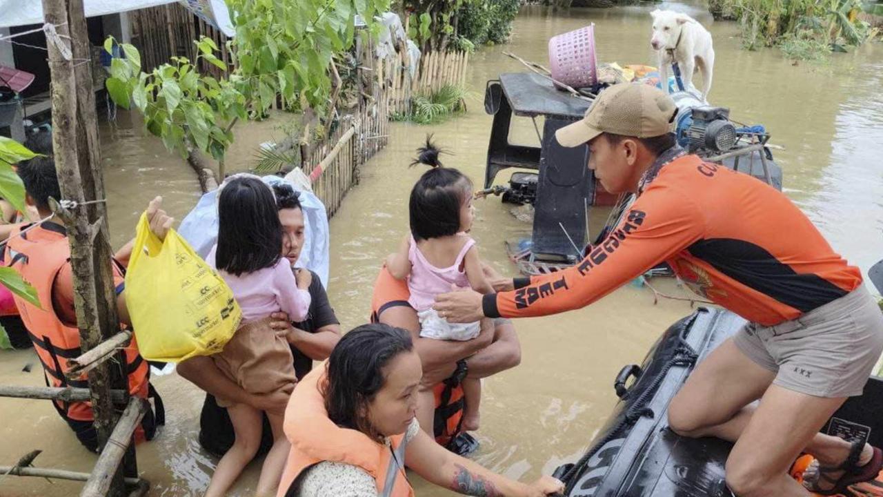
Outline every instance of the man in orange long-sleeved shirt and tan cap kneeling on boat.
[[638, 194], [622, 223], [565, 271], [496, 281], [497, 294], [442, 294], [435, 310], [451, 322], [547, 316], [668, 262], [699, 294], [749, 321], [699, 363], [669, 406], [675, 432], [736, 442], [730, 489], [809, 495], [787, 474], [804, 451], [821, 465], [809, 483], [815, 492], [876, 477], [879, 449], [819, 433], [847, 397], [862, 394], [883, 350], [883, 315], [861, 272], [781, 192], [686, 155], [669, 133], [675, 114], [657, 88], [601, 92], [556, 137], [565, 147], [588, 143], [588, 167], [608, 192]]

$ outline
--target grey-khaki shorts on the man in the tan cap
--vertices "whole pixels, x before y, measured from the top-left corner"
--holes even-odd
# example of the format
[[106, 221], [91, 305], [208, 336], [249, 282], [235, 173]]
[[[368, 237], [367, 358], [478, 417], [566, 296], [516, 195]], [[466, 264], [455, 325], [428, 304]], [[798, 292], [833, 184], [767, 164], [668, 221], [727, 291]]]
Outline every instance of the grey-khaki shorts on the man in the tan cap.
[[861, 395], [883, 351], [883, 313], [864, 285], [779, 325], [748, 323], [734, 338], [774, 385], [815, 397]]

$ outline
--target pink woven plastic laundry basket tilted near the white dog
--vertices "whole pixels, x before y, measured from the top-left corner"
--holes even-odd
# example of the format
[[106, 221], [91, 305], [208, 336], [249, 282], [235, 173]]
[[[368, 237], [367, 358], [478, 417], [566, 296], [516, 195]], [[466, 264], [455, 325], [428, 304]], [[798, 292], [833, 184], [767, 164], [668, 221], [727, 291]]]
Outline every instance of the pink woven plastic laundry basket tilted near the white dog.
[[573, 88], [589, 88], [598, 83], [593, 23], [549, 40], [549, 70], [552, 79]]

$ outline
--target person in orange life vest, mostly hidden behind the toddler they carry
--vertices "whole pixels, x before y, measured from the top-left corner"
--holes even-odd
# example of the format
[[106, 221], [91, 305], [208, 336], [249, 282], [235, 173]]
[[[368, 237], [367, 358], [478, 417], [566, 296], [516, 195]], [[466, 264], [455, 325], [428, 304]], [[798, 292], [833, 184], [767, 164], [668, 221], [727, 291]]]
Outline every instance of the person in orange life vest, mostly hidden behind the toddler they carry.
[[[489, 277], [500, 279], [489, 267], [484, 269]], [[381, 268], [374, 281], [371, 322], [411, 332], [423, 361], [425, 385], [434, 386], [435, 440], [461, 455], [472, 452], [478, 442], [471, 437], [457, 436], [461, 433], [464, 407], [459, 382], [467, 374], [472, 378], [486, 378], [517, 366], [521, 362], [521, 346], [515, 326], [508, 319], [497, 319], [494, 333], [482, 333], [473, 340], [442, 342], [420, 338], [417, 311], [411, 308], [408, 296], [407, 283], [393, 278], [386, 267]]]

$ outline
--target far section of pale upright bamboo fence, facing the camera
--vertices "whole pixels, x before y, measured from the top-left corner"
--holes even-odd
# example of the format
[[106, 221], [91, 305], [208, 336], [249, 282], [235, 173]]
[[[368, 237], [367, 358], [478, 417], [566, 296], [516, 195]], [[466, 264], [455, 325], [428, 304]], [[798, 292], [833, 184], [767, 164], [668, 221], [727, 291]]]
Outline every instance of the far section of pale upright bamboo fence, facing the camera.
[[426, 52], [419, 60], [419, 67], [411, 77], [411, 60], [406, 50], [378, 65], [379, 80], [386, 90], [389, 111], [409, 114], [414, 96], [438, 91], [446, 85], [464, 87], [469, 52]]

